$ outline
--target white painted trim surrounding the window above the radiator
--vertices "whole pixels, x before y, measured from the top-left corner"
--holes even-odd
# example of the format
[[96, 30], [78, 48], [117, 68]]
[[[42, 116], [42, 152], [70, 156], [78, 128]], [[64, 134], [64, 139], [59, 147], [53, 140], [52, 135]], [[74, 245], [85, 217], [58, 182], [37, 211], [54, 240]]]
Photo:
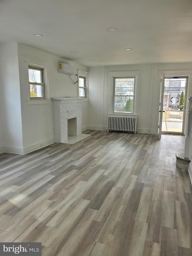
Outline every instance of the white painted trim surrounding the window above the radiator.
[[[109, 103], [110, 103], [110, 114], [118, 114], [118, 115], [128, 115], [128, 116], [136, 116], [138, 115], [138, 105], [139, 105], [139, 74], [140, 71], [115, 71], [109, 72], [109, 83], [110, 83], [110, 93], [109, 93]], [[122, 113], [122, 112], [114, 112], [114, 95], [113, 95], [113, 88], [114, 88], [114, 78], [135, 78], [135, 88], [134, 88], [134, 106], [133, 106], [133, 113]]]

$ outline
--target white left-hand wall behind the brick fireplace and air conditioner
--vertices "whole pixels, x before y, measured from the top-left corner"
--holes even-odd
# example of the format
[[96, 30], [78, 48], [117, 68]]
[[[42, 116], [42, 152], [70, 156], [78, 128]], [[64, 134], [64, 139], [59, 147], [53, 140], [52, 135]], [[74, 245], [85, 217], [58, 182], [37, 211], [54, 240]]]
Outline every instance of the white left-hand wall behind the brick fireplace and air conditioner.
[[[24, 55], [48, 62], [49, 104], [27, 105], [26, 102], [26, 69]], [[51, 54], [18, 44], [19, 78], [21, 90], [21, 113], [23, 127], [23, 148], [25, 152], [50, 144], [54, 140], [52, 97], [77, 97], [77, 84], [73, 84], [68, 75], [58, 73], [58, 63], [74, 65], [77, 69], [87, 68], [76, 63], [58, 58]], [[87, 102], [82, 102], [82, 126], [87, 125]]]

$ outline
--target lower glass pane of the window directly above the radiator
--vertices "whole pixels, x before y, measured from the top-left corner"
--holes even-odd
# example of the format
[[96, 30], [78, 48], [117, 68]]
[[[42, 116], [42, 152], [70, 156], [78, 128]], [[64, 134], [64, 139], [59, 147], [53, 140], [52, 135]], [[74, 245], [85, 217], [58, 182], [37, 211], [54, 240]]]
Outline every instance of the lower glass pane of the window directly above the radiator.
[[115, 96], [114, 112], [133, 113], [133, 97]]

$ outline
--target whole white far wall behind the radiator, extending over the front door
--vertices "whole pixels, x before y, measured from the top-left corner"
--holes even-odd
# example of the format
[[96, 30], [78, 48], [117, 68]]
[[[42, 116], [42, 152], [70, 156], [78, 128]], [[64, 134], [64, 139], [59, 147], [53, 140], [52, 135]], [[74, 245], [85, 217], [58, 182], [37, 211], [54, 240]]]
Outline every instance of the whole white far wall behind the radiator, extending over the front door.
[[[158, 71], [171, 70], [192, 70], [192, 63], [168, 63], [154, 64], [153, 83], [152, 83], [152, 64], [140, 65], [116, 65], [106, 67], [91, 67], [89, 72], [89, 103], [88, 103], [88, 120], [89, 128], [103, 129], [103, 100], [104, 100], [104, 129], [107, 127], [107, 115], [111, 113], [110, 105], [110, 71], [140, 71], [139, 82], [139, 106], [137, 128], [141, 133], [158, 133], [158, 113], [160, 85], [158, 84]], [[104, 83], [103, 83], [104, 79]], [[104, 98], [103, 98], [104, 86]], [[152, 90], [151, 90], [152, 89]], [[112, 90], [111, 90], [112, 91]], [[151, 99], [152, 91], [152, 100]], [[192, 95], [192, 78], [189, 81], [188, 97]], [[149, 119], [151, 105], [151, 115]], [[150, 121], [150, 125], [149, 125]]]

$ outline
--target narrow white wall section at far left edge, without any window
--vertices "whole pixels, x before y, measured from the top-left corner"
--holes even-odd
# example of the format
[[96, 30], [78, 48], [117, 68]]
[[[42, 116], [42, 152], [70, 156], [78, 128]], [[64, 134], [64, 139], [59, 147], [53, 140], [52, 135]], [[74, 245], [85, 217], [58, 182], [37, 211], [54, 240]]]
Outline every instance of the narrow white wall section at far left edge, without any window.
[[5, 152], [20, 152], [23, 140], [17, 43], [0, 44], [0, 85], [1, 144]]

